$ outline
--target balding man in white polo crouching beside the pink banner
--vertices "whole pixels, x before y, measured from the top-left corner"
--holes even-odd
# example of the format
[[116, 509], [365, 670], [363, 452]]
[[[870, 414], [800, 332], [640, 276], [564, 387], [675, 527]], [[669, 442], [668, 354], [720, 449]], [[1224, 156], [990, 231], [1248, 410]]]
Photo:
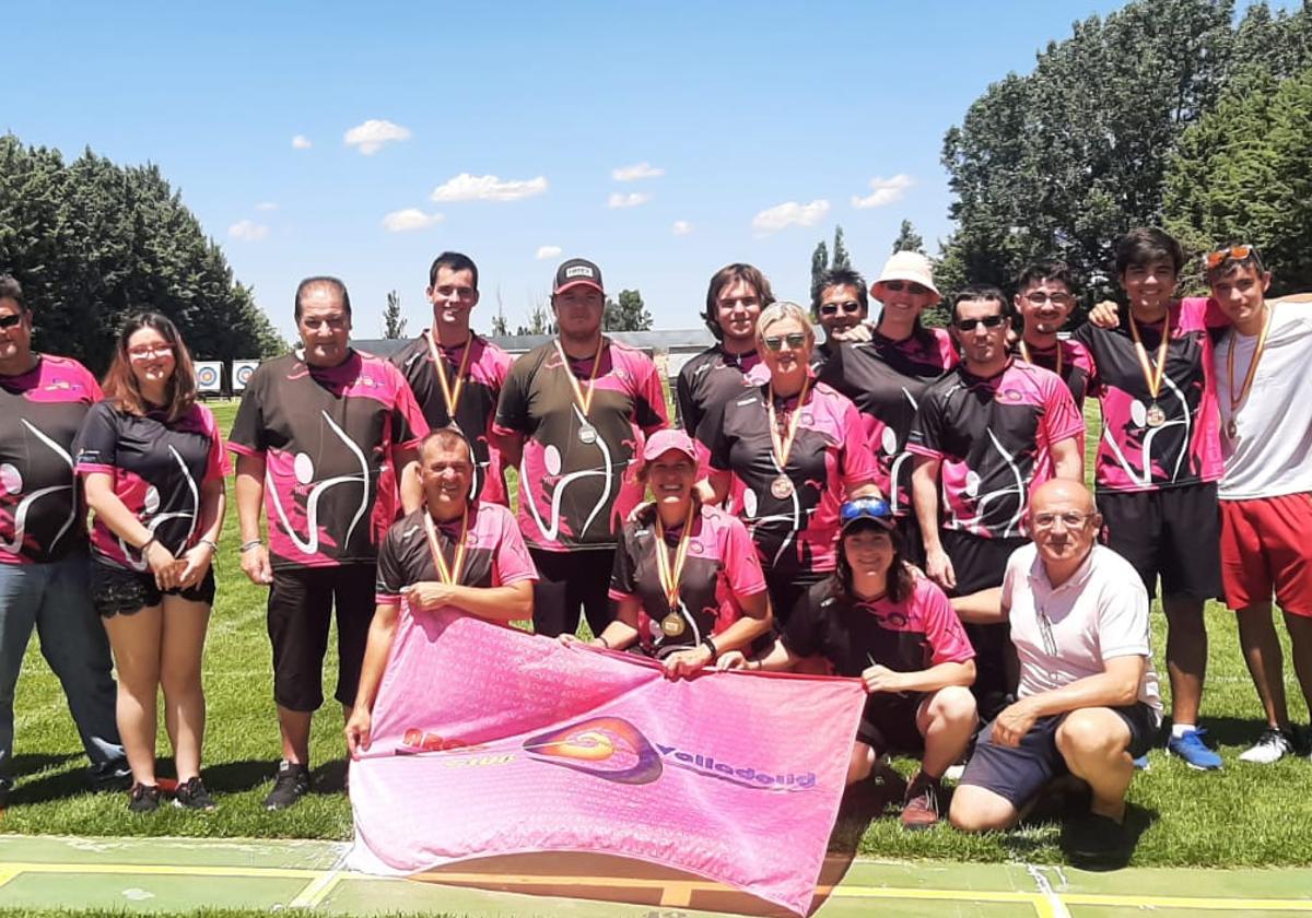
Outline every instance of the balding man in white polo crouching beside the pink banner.
[[1002, 582], [1019, 700], [980, 733], [950, 820], [964, 831], [1005, 829], [1069, 771], [1093, 791], [1071, 854], [1098, 858], [1124, 845], [1134, 758], [1161, 723], [1148, 594], [1128, 561], [1094, 544], [1102, 517], [1084, 485], [1039, 487], [1029, 523], [1034, 543], [1012, 555]]

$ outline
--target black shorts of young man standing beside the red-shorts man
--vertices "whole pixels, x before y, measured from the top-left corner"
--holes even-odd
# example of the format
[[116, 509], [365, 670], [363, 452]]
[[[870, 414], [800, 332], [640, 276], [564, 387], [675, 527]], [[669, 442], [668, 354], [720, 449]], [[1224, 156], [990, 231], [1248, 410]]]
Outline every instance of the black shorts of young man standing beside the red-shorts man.
[[1221, 595], [1221, 523], [1215, 484], [1099, 490], [1103, 543], [1139, 572], [1148, 598]]

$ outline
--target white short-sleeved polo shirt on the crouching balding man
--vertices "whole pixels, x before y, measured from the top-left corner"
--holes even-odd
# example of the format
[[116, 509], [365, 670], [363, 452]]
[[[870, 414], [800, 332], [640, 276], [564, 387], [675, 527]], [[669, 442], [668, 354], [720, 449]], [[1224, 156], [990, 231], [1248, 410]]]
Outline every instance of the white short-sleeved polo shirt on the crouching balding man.
[[1021, 658], [1021, 698], [1098, 675], [1115, 657], [1145, 657], [1139, 700], [1161, 721], [1148, 593], [1120, 555], [1096, 544], [1078, 570], [1052, 586], [1038, 548], [1022, 546], [1006, 563], [1002, 606], [1010, 609], [1012, 643]]

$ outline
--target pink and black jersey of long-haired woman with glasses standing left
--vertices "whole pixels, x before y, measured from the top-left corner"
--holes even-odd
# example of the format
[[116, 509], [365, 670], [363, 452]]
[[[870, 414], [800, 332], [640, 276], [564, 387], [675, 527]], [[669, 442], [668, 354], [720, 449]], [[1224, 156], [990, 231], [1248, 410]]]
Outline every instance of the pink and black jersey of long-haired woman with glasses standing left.
[[[131, 414], [110, 401], [87, 412], [77, 434], [77, 473], [102, 472], [118, 497], [155, 539], [176, 557], [201, 538], [201, 488], [228, 472], [223, 435], [205, 405], [177, 421], [164, 412]], [[96, 560], [127, 570], [146, 570], [135, 546], [118, 538], [97, 517], [91, 532]]]

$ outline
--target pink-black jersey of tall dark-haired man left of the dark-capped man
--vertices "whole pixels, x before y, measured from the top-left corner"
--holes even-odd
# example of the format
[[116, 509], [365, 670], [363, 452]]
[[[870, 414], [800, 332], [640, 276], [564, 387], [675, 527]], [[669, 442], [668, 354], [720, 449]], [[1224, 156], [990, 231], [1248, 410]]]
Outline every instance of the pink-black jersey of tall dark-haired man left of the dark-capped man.
[[474, 487], [470, 496], [508, 505], [509, 497], [505, 493], [501, 452], [492, 442], [492, 421], [496, 420], [496, 403], [501, 396], [501, 386], [510, 372], [514, 358], [478, 334], [471, 334], [458, 348], [449, 349], [438, 345], [438, 353], [446, 365], [449, 386], [455, 386], [466, 348], [471, 349], [470, 361], [464, 370], [466, 379], [457, 403], [455, 418], [451, 418], [446, 410], [442, 383], [437, 378], [433, 354], [428, 346], [428, 332], [392, 354], [390, 359], [409, 383], [411, 392], [415, 393], [415, 400], [419, 403], [420, 410], [424, 412], [424, 420], [428, 421], [429, 429], [446, 428], [454, 420], [468, 439], [475, 464]]

